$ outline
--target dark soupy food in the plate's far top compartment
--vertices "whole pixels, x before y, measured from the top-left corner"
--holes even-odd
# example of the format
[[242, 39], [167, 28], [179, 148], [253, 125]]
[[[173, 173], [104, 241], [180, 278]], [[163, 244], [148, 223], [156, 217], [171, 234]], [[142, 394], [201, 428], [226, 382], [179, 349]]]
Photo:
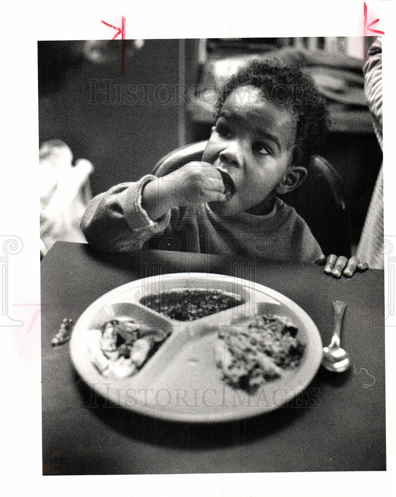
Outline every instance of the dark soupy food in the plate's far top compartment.
[[205, 288], [173, 289], [146, 295], [139, 302], [177, 321], [193, 321], [244, 303], [240, 295]]

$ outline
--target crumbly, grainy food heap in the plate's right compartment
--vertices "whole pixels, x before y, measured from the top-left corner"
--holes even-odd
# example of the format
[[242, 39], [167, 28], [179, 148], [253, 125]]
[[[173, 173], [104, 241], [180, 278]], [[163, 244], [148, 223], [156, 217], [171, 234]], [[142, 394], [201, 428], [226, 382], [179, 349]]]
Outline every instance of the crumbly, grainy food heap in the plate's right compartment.
[[257, 314], [243, 324], [218, 329], [216, 364], [224, 381], [254, 391], [297, 367], [305, 346], [289, 318]]

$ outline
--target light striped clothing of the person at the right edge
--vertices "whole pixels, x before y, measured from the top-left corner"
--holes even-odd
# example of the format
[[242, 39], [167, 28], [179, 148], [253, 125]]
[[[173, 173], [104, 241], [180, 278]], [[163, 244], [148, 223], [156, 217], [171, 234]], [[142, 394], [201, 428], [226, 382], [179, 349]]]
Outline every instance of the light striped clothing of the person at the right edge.
[[[364, 91], [373, 118], [373, 126], [382, 149], [382, 39], [379, 36], [368, 52], [363, 68]], [[384, 190], [383, 165], [374, 187], [362, 235], [357, 248], [357, 257], [371, 268], [384, 269]]]

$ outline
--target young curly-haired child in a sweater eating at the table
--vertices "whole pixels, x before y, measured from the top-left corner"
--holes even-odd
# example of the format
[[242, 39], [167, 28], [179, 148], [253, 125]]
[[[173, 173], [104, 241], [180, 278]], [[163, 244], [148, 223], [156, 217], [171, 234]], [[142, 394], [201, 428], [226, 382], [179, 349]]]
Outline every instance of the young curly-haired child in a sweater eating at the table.
[[[164, 235], [179, 250], [325, 262], [305, 221], [277, 195], [299, 186], [326, 130], [326, 106], [299, 70], [253, 61], [220, 90], [200, 162], [150, 174], [96, 196], [81, 220], [88, 243], [135, 251]], [[327, 259], [351, 276], [358, 259]]]

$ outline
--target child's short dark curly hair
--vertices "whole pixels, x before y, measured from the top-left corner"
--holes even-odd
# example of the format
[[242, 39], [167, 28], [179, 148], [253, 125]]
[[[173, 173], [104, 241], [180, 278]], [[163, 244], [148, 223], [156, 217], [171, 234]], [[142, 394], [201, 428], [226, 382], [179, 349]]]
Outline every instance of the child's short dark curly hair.
[[286, 107], [297, 120], [296, 146], [293, 162], [307, 167], [317, 154], [327, 131], [326, 100], [309, 76], [296, 67], [284, 66], [276, 60], [253, 60], [241, 68], [220, 88], [215, 104], [215, 118], [229, 94], [239, 86], [259, 88], [265, 99]]

